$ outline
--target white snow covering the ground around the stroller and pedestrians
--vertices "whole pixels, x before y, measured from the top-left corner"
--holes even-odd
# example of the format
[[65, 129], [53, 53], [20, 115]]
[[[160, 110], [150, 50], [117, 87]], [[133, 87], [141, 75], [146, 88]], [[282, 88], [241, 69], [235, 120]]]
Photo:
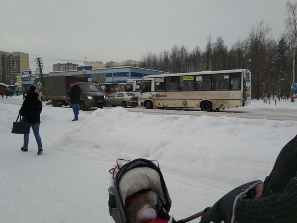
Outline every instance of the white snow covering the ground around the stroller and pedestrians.
[[[22, 96], [13, 96], [21, 100]], [[0, 98], [0, 222], [114, 223], [108, 211], [109, 169], [117, 158], [159, 161], [179, 220], [211, 206], [226, 192], [264, 180], [282, 147], [297, 134], [296, 121], [189, 115], [147, 115], [124, 108], [80, 111], [44, 106], [40, 135], [11, 127], [21, 105]], [[297, 102], [253, 100], [250, 112], [291, 111]], [[240, 108], [239, 108], [240, 111]], [[193, 221], [197, 222], [197, 220]]]

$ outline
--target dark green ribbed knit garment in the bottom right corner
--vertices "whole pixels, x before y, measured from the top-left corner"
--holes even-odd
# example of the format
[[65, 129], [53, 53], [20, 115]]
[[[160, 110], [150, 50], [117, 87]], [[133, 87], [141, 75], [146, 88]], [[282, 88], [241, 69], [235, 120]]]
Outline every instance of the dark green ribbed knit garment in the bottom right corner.
[[235, 209], [238, 223], [297, 223], [297, 135], [281, 150], [264, 182], [260, 199], [243, 199]]

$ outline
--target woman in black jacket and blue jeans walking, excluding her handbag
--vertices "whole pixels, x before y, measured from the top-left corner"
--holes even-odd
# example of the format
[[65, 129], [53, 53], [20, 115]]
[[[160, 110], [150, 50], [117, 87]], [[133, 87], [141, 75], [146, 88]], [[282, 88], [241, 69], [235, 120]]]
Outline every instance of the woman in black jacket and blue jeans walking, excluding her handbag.
[[[23, 105], [19, 110], [19, 114], [25, 117], [27, 122], [30, 122], [30, 128], [32, 127], [37, 146], [38, 152], [37, 155], [43, 153], [41, 137], [39, 135], [39, 126], [40, 126], [40, 113], [42, 111], [41, 100], [38, 99], [38, 94], [36, 93], [36, 87], [34, 85], [30, 86]], [[28, 151], [29, 144], [29, 134], [24, 134], [24, 146], [21, 148], [22, 151]]]

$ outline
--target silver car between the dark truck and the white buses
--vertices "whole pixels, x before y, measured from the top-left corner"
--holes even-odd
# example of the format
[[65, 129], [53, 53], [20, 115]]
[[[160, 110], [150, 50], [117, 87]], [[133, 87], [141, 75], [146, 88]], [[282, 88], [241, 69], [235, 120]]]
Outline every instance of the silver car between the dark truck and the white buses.
[[138, 105], [138, 96], [135, 96], [128, 92], [115, 92], [105, 98], [106, 106], [122, 106], [126, 108], [131, 106], [132, 108]]

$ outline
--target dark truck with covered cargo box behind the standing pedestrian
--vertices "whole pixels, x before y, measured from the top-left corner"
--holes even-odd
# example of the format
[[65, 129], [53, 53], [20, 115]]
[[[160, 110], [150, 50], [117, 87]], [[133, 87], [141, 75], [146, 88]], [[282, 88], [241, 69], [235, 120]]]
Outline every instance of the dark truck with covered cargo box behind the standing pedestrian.
[[104, 95], [95, 87], [93, 83], [88, 83], [88, 78], [84, 76], [53, 76], [42, 79], [41, 100], [51, 100], [53, 107], [69, 105], [66, 96], [70, 91], [70, 82], [76, 81], [81, 88], [80, 109], [86, 110], [90, 107], [103, 108], [105, 104]]

